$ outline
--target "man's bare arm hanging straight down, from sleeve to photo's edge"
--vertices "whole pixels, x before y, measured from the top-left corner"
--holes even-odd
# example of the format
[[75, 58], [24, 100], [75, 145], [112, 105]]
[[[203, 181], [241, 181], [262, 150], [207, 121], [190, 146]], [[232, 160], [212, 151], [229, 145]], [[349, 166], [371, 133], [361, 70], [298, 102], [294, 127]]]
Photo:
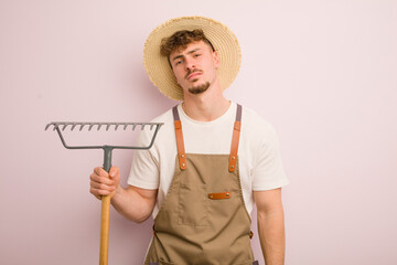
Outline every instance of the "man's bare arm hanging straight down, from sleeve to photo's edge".
[[254, 200], [257, 205], [258, 233], [265, 263], [283, 265], [286, 236], [281, 188], [254, 191]]

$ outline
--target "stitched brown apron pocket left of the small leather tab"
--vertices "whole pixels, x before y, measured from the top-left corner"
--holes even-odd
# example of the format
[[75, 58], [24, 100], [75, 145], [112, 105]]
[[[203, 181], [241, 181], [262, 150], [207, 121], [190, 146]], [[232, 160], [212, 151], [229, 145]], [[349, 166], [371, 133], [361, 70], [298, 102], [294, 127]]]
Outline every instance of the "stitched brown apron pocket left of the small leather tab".
[[180, 184], [178, 224], [191, 226], [208, 225], [208, 205], [205, 184]]

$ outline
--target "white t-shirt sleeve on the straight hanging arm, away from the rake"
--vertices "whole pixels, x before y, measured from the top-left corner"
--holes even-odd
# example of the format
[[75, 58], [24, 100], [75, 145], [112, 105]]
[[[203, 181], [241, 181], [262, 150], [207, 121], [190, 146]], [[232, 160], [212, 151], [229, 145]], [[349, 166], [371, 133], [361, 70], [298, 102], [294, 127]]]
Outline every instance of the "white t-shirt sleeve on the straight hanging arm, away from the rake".
[[276, 130], [267, 124], [259, 138], [253, 168], [253, 190], [272, 190], [288, 184]]

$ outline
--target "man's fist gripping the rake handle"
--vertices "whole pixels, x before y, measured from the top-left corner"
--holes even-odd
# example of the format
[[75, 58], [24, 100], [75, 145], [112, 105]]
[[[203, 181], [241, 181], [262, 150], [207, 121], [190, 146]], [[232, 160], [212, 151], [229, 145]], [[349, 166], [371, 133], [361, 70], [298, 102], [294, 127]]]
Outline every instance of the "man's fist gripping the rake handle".
[[108, 173], [103, 168], [98, 167], [94, 169], [89, 179], [89, 192], [93, 195], [99, 200], [101, 195], [110, 195], [110, 198], [112, 198], [120, 186], [120, 170], [118, 167], [111, 167]]

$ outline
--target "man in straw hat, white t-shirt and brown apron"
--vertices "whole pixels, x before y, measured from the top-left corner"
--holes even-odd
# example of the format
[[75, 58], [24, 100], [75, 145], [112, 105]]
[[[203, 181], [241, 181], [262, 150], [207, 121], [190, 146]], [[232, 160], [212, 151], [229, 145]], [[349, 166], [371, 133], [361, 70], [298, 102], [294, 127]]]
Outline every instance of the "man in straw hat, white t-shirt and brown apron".
[[[128, 188], [118, 168], [96, 168], [90, 192], [111, 195], [135, 222], [154, 219], [144, 264], [257, 264], [250, 248], [254, 201], [266, 264], [283, 264], [281, 187], [288, 183], [271, 125], [227, 100], [240, 50], [217, 21], [173, 19], [144, 46], [144, 67], [167, 96], [183, 100], [155, 118], [154, 146], [136, 152]], [[142, 132], [140, 142], [147, 142]]]

